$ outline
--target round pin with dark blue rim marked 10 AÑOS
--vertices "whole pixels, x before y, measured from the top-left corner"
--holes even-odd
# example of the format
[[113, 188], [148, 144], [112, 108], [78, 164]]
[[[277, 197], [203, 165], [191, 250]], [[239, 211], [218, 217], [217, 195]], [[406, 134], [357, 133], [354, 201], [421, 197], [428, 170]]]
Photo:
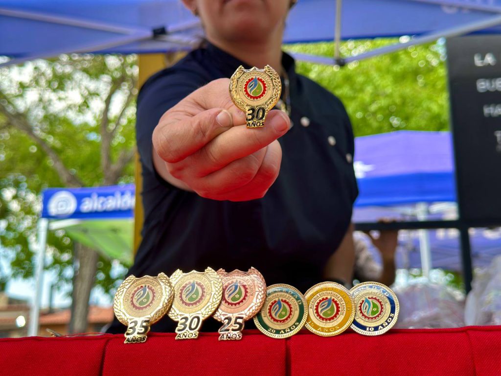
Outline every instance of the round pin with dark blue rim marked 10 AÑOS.
[[395, 325], [398, 317], [398, 299], [388, 286], [364, 282], [350, 290], [355, 301], [353, 330], [364, 335], [379, 335]]

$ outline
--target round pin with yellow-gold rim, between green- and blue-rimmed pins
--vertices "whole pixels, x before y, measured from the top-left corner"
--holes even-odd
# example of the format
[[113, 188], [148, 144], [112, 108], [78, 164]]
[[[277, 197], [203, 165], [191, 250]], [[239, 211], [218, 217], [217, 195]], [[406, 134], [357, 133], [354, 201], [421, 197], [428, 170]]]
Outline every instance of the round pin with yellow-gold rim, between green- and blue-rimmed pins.
[[350, 291], [335, 282], [322, 282], [311, 287], [305, 298], [308, 320], [305, 326], [313, 333], [330, 337], [348, 329], [355, 317]]

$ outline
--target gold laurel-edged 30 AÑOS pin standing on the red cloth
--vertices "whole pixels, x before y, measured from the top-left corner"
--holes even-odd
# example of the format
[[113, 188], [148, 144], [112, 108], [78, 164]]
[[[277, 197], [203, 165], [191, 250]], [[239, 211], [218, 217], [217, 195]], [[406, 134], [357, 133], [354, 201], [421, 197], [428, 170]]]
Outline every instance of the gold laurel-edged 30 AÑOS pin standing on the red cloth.
[[177, 321], [176, 339], [197, 338], [202, 321], [219, 306], [222, 283], [211, 268], [183, 273], [179, 269], [171, 276], [174, 286], [174, 301], [169, 317]]

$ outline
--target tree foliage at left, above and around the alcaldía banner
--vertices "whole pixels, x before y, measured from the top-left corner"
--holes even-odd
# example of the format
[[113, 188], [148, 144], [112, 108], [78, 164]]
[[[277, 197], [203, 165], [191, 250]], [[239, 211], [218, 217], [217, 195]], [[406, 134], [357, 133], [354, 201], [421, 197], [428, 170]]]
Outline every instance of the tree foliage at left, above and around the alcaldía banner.
[[[133, 181], [136, 60], [61, 55], [0, 68], [0, 257], [13, 277], [33, 276], [45, 187]], [[48, 254], [59, 284], [71, 281], [73, 244], [64, 230], [49, 232]], [[110, 260], [97, 264], [97, 285], [113, 293], [121, 276]], [[0, 270], [0, 281], [9, 277]]]

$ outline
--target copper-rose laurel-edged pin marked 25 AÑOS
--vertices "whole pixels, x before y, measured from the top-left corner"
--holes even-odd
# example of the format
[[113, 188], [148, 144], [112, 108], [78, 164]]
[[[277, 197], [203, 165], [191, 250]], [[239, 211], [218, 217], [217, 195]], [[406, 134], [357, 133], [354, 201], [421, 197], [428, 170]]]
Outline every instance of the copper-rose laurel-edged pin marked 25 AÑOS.
[[230, 273], [219, 269], [217, 274], [223, 286], [221, 304], [214, 313], [214, 318], [223, 323], [219, 340], [241, 339], [244, 322], [254, 317], [265, 302], [265, 279], [255, 268]]

